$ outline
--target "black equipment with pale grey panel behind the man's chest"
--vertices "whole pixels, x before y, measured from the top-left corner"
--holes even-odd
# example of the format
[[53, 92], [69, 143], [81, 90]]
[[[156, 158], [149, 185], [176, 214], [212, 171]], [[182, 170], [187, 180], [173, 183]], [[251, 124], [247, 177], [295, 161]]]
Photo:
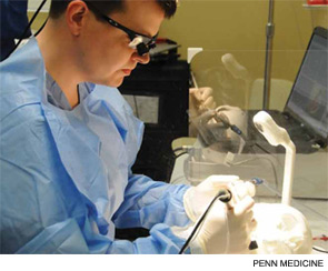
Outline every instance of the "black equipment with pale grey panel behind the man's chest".
[[175, 163], [171, 142], [188, 136], [189, 64], [171, 59], [150, 61], [126, 78], [119, 90], [145, 122], [132, 172], [169, 182]]

